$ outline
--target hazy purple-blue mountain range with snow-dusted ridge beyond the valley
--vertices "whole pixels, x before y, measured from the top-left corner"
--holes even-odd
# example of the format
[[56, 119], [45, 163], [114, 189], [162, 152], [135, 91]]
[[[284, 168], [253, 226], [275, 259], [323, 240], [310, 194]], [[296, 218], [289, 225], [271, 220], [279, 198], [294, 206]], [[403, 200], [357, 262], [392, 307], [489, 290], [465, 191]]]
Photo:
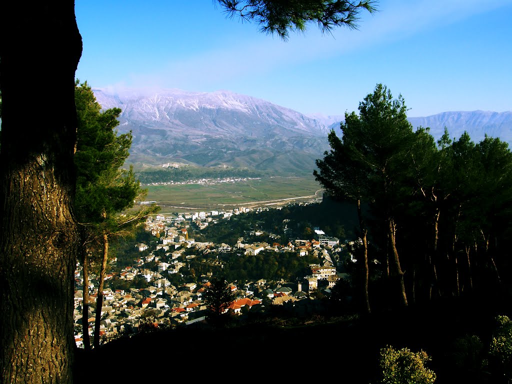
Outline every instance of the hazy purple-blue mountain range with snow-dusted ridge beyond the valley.
[[[134, 167], [174, 164], [258, 170], [274, 175], [311, 175], [329, 150], [327, 134], [344, 116], [306, 116], [283, 106], [229, 91], [93, 90], [102, 108], [120, 108], [119, 133], [132, 131], [128, 162]], [[410, 117], [438, 139], [467, 131], [512, 143], [512, 112], [443, 112]], [[341, 135], [341, 133], [340, 133]]]

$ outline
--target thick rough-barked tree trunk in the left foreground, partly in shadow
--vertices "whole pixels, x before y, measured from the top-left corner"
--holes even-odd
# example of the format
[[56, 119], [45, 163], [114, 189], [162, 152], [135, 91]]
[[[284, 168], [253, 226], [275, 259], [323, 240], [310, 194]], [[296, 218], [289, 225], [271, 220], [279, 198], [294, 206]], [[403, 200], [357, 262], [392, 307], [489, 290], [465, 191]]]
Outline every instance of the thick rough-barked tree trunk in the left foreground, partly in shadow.
[[0, 382], [71, 383], [74, 2], [2, 2], [0, 34]]

